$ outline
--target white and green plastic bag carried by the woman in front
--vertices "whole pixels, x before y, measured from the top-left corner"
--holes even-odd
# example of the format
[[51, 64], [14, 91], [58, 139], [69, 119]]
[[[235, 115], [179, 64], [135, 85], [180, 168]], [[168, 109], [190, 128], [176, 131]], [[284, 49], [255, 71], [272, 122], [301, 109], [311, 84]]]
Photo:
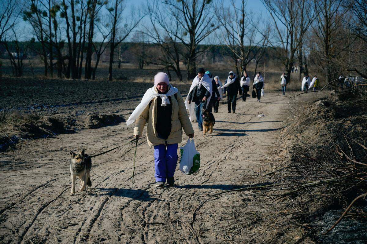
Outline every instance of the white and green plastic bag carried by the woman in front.
[[194, 139], [187, 140], [185, 147], [180, 147], [181, 160], [180, 170], [182, 173], [190, 175], [200, 168], [200, 153], [195, 149]]

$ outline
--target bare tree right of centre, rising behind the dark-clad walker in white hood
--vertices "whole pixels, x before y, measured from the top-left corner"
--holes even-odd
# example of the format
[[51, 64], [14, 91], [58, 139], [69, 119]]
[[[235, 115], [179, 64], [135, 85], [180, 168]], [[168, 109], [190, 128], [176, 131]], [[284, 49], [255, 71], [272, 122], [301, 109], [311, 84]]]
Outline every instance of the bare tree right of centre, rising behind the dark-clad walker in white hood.
[[[230, 7], [223, 8], [222, 2], [217, 11], [221, 11], [222, 38], [226, 46], [232, 51], [236, 63], [237, 74], [247, 71], [247, 65], [256, 56], [261, 48], [258, 48], [268, 33], [259, 33], [259, 18], [254, 19], [252, 14], [247, 14], [247, 1], [241, 0], [240, 4], [235, 0], [230, 1]], [[237, 7], [239, 6], [239, 7]], [[240, 61], [240, 69], [237, 67], [237, 59]]]

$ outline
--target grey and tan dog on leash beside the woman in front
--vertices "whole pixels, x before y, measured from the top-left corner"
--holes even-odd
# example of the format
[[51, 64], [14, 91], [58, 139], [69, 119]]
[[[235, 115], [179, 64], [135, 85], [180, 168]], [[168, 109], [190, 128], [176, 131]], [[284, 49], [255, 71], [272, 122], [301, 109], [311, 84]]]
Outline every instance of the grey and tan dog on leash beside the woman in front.
[[[85, 191], [88, 185], [92, 186], [92, 182], [89, 178], [91, 167], [92, 167], [92, 159], [88, 157], [87, 154], [84, 154], [85, 149], [81, 152], [73, 152], [70, 151], [71, 162], [70, 162], [70, 173], [71, 173], [71, 193], [70, 196], [73, 196], [75, 193], [75, 180], [78, 176], [80, 178], [80, 188], [79, 191]], [[87, 158], [88, 157], [88, 158]]]

